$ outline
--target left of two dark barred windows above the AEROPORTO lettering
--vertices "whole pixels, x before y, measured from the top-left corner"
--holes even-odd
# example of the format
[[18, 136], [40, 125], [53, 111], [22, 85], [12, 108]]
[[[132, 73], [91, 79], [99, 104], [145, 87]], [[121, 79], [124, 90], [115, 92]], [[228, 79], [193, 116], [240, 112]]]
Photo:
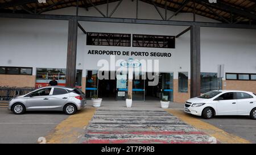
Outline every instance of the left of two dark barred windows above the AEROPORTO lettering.
[[131, 46], [131, 35], [121, 33], [96, 33], [88, 32], [86, 45], [102, 45], [102, 46]]

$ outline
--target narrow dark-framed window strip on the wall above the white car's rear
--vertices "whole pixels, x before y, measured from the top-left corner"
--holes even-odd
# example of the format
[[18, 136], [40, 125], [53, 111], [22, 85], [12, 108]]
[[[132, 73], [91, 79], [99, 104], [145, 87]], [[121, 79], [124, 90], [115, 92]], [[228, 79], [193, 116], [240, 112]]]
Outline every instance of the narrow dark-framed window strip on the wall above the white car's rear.
[[256, 74], [250, 73], [226, 73], [227, 80], [256, 80]]

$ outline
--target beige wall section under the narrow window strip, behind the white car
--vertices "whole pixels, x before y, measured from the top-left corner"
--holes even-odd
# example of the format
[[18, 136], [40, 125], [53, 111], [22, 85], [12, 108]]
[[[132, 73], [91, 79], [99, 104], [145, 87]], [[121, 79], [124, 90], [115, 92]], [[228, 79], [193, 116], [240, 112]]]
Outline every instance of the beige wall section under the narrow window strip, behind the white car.
[[243, 90], [256, 93], [256, 81], [223, 80], [222, 89]]

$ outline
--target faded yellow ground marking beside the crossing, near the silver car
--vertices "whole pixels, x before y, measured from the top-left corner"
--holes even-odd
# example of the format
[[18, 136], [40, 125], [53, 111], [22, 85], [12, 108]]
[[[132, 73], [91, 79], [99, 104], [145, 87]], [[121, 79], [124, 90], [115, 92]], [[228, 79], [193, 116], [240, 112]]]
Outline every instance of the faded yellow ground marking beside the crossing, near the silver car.
[[78, 137], [84, 133], [85, 125], [89, 124], [95, 111], [96, 108], [86, 107], [69, 116], [46, 136], [46, 143], [77, 143]]

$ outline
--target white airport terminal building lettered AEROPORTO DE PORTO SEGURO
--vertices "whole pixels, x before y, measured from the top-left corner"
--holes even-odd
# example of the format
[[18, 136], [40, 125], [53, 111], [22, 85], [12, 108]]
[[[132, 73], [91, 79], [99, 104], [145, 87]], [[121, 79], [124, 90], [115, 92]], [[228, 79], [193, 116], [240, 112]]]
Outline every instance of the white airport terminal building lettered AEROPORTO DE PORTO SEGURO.
[[[77, 7], [69, 0], [52, 2], [38, 3], [48, 10], [35, 17], [26, 10], [36, 1], [25, 4], [27, 16], [0, 5], [1, 87], [42, 87], [56, 77], [87, 98], [123, 100], [130, 92], [134, 100], [178, 103], [217, 89], [256, 93], [256, 27], [245, 19], [222, 24], [228, 15], [214, 4], [198, 2], [193, 14], [193, 1], [183, 6], [182, 0], [79, 1]], [[255, 5], [249, 2], [241, 7]], [[218, 65], [224, 66], [222, 78]], [[156, 85], [148, 84], [152, 77], [158, 77]]]

